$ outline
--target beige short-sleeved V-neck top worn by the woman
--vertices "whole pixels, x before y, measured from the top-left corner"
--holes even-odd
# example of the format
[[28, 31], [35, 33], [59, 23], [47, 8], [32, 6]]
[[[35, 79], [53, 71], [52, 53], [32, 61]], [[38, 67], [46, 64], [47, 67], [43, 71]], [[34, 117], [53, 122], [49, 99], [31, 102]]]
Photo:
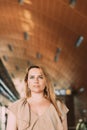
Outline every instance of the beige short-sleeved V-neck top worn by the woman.
[[[67, 107], [60, 101], [57, 102], [62, 120], [68, 112]], [[16, 115], [18, 130], [64, 130], [60, 118], [51, 104], [43, 115], [38, 116], [30, 110], [26, 98], [14, 102], [9, 109]]]

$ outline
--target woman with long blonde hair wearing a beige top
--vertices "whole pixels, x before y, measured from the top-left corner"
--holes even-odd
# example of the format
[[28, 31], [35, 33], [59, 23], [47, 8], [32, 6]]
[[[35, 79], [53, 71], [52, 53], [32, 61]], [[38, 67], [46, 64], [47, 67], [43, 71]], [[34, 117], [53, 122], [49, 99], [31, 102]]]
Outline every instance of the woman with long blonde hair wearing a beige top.
[[31, 66], [25, 76], [26, 98], [9, 107], [7, 130], [67, 130], [67, 107], [56, 101], [48, 74]]

